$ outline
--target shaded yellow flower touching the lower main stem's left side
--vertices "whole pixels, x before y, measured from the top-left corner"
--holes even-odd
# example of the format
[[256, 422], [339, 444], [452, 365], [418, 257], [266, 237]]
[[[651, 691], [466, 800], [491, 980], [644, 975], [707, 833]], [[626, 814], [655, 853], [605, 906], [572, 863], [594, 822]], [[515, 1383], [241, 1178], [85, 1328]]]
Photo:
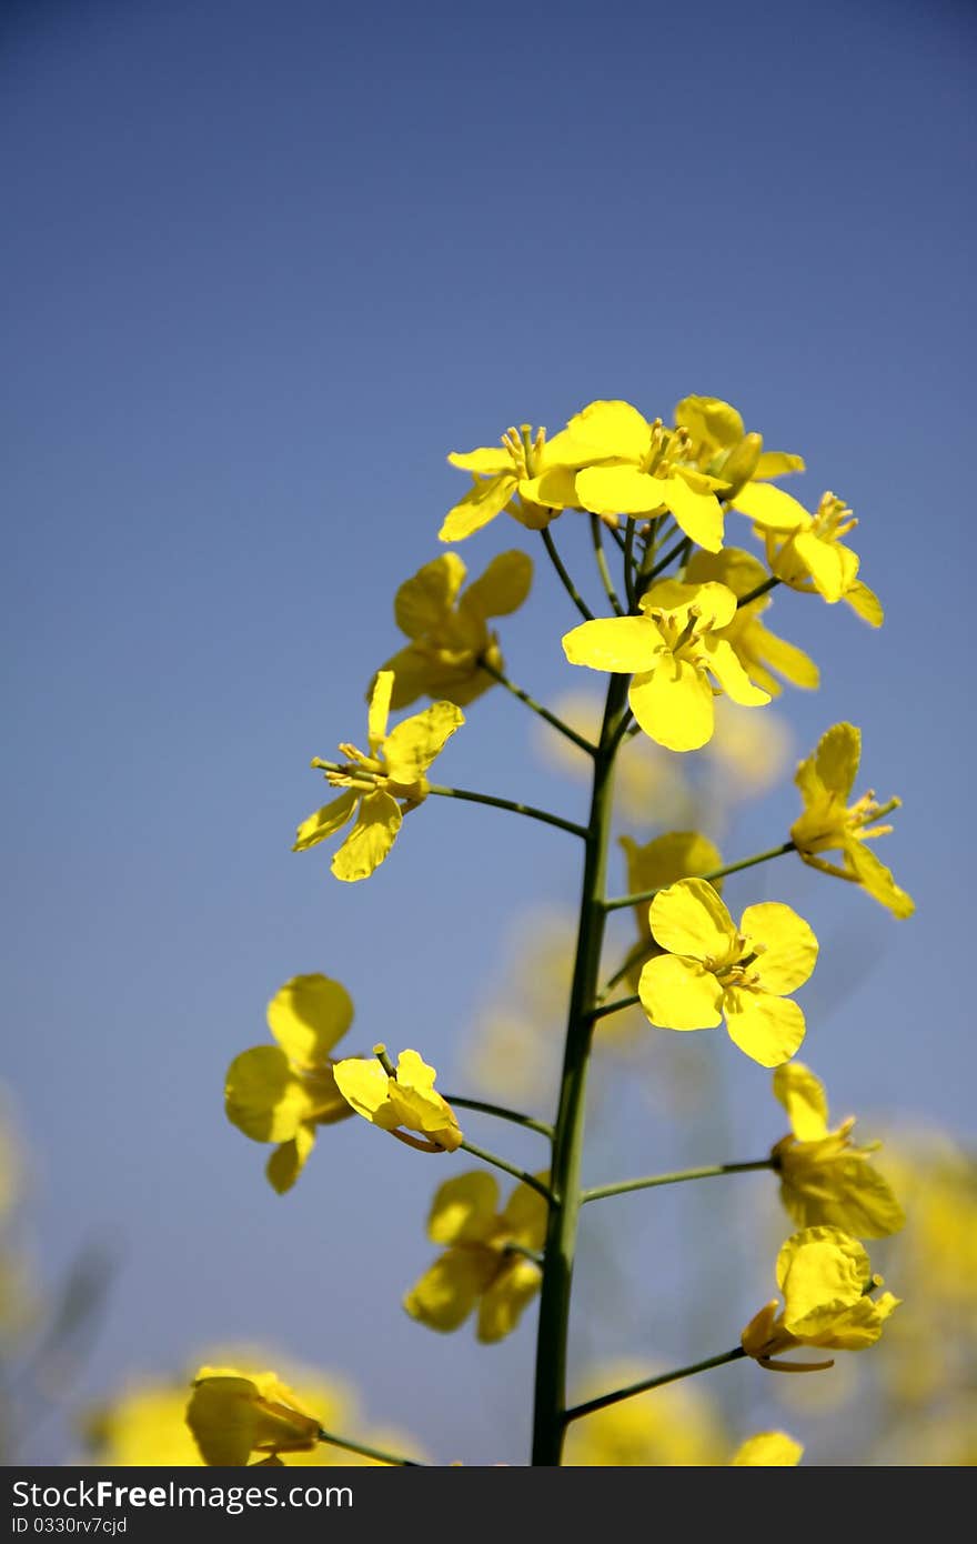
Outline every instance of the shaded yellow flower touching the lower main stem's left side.
[[[545, 1183], [548, 1175], [539, 1175]], [[522, 1251], [539, 1251], [546, 1237], [546, 1201], [528, 1184], [499, 1207], [491, 1173], [460, 1173], [438, 1189], [428, 1237], [446, 1251], [404, 1297], [404, 1308], [429, 1329], [458, 1329], [478, 1305], [477, 1336], [502, 1340], [516, 1329], [536, 1297], [542, 1271]]]

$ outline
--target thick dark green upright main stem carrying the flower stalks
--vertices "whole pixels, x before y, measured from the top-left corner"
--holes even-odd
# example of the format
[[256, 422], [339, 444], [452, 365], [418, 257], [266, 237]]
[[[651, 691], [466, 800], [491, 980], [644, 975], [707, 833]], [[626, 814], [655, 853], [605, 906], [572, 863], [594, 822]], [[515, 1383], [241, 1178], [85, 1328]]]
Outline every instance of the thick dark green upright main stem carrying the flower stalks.
[[627, 712], [628, 681], [627, 675], [613, 675], [608, 682], [603, 723], [600, 726], [600, 744], [594, 757], [580, 917], [577, 925], [577, 953], [570, 991], [566, 1044], [549, 1177], [553, 1206], [546, 1229], [536, 1342], [532, 1464], [543, 1467], [559, 1465], [563, 1450], [566, 1332], [580, 1210], [580, 1158], [587, 1112], [591, 1010], [597, 990], [605, 926], [603, 885], [614, 783], [613, 747], [620, 715]]

